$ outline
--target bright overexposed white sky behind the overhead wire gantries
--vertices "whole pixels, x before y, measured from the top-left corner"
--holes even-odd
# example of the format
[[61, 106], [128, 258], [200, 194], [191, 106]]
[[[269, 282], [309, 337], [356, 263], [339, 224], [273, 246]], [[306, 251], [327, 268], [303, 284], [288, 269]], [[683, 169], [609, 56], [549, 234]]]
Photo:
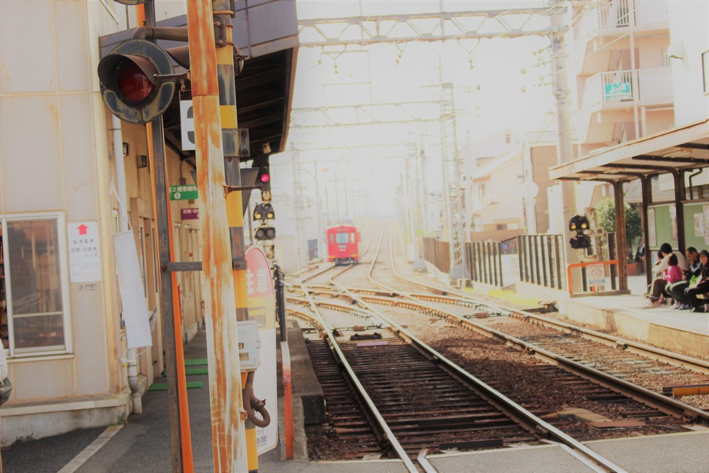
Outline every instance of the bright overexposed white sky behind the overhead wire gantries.
[[[298, 17], [345, 18], [385, 14], [540, 7], [541, 1], [315, 1], [298, 0]], [[510, 26], [521, 26], [505, 16]], [[524, 17], [526, 18], [526, 17]], [[520, 20], [521, 21], [521, 20]], [[545, 23], [527, 24], [537, 30]], [[466, 26], [469, 26], [466, 24]], [[341, 26], [321, 26], [337, 35]], [[328, 30], [328, 28], [330, 28]], [[338, 29], [339, 28], [339, 29]], [[500, 23], [486, 21], [480, 31], [503, 30]], [[349, 31], [349, 30], [348, 30]], [[301, 33], [301, 42], [313, 34]], [[405, 172], [404, 161], [412, 140], [428, 157], [430, 191], [442, 187], [440, 94], [441, 82], [454, 86], [454, 105], [459, 150], [503, 128], [520, 133], [554, 129], [549, 120], [554, 99], [549, 87], [549, 38], [449, 40], [310, 47], [298, 51], [289, 131], [289, 150], [299, 150], [305, 169], [305, 191], [320, 199], [345, 191], [350, 200], [364, 205], [369, 196], [377, 208], [393, 210], [396, 184]], [[401, 106], [382, 106], [399, 103]], [[371, 106], [371, 104], [379, 104]], [[323, 111], [323, 107], [328, 107]], [[376, 125], [328, 126], [357, 121]], [[403, 123], [387, 123], [399, 121]], [[272, 157], [286, 166], [291, 153]], [[285, 177], [286, 169], [281, 167]], [[292, 169], [290, 170], [292, 172]], [[291, 179], [283, 179], [289, 186]], [[339, 189], [339, 190], [338, 190]], [[340, 196], [342, 211], [344, 196]], [[334, 204], [333, 204], [334, 206]], [[350, 210], [350, 213], [352, 211]]]

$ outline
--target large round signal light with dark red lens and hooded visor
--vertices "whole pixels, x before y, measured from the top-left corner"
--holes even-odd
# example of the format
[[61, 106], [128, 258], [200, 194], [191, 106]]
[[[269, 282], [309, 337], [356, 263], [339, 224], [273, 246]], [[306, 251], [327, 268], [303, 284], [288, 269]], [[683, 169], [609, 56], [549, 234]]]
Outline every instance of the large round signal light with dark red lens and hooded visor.
[[175, 80], [167, 52], [146, 40], [121, 43], [99, 62], [101, 97], [113, 115], [128, 123], [155, 120], [167, 110]]

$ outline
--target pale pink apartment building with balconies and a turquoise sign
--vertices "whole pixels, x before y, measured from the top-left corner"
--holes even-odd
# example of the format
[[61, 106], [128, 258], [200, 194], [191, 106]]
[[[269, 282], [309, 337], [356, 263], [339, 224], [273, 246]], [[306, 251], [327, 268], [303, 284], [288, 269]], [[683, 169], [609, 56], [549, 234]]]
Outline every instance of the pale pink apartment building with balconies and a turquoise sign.
[[669, 3], [574, 2], [580, 155], [674, 126]]

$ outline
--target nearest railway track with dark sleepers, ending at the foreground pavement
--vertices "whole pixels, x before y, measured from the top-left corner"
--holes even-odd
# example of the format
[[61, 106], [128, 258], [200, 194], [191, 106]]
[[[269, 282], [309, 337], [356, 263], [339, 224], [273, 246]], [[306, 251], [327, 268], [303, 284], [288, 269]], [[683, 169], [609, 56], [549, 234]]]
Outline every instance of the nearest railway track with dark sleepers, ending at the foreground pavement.
[[[344, 306], [340, 310], [352, 313]], [[342, 434], [342, 445], [350, 443], [352, 434], [359, 440], [354, 452], [343, 457], [372, 455], [372, 435], [366, 435], [368, 442], [360, 436], [368, 433], [362, 419], [369, 417], [377, 421], [381, 455], [396, 454], [411, 472], [435, 471], [425, 460], [430, 452], [540, 442], [570, 446], [603, 471], [623, 471], [556, 425], [542, 421], [472, 377], [401, 327], [356, 328], [357, 333], [348, 338], [344, 330], [329, 328], [318, 308], [313, 315], [293, 308], [289, 313], [310, 320], [325, 334], [337, 354], [337, 363], [349, 375], [348, 384], [357, 387], [357, 405], [364, 406], [368, 413], [363, 415], [333, 398], [335, 413], [347, 413], [344, 418], [331, 417], [333, 431], [338, 437]], [[327, 372], [333, 372], [331, 365]], [[337, 393], [341, 395], [339, 389]], [[562, 427], [573, 424], [559, 419], [555, 423]]]

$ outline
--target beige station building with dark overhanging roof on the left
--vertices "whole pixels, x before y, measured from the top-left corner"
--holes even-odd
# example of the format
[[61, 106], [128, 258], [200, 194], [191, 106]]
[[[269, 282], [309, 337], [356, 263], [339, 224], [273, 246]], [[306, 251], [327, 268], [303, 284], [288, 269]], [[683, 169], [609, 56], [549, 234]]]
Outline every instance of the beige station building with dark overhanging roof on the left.
[[[235, 5], [235, 42], [248, 56], [237, 82], [239, 126], [250, 128], [255, 149], [279, 152], [296, 60], [294, 2]], [[184, 1], [155, 6], [159, 26], [186, 24]], [[138, 401], [164, 369], [164, 334], [145, 126], [111, 116], [96, 74], [112, 45], [130, 38], [135, 9], [108, 0], [4, 1], [0, 17], [0, 338], [13, 382], [1, 410], [7, 445], [120, 423], [133, 411], [114, 254], [122, 226], [138, 253], [140, 316], [152, 337], [135, 354]], [[179, 95], [164, 115], [170, 186], [193, 184], [194, 151], [179, 146]], [[199, 261], [194, 200], [169, 205], [176, 260]], [[203, 324], [201, 278], [178, 279], [186, 343]]]

